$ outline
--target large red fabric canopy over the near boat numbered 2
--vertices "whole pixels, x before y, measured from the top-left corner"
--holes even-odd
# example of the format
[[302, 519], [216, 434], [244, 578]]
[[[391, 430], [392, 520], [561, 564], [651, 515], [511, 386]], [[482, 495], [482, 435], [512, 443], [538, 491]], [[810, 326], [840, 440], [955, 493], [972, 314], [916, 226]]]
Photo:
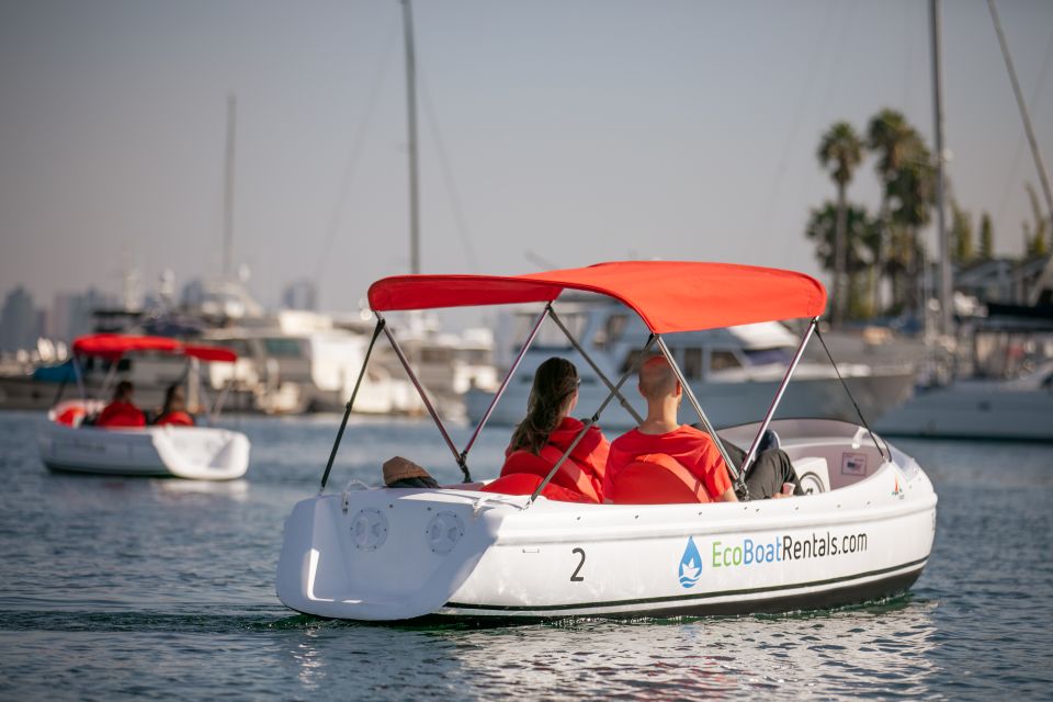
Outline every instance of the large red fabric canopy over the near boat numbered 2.
[[656, 333], [817, 317], [826, 290], [809, 275], [690, 261], [598, 263], [528, 275], [396, 275], [370, 286], [376, 312], [552, 302], [565, 290], [613, 297]]

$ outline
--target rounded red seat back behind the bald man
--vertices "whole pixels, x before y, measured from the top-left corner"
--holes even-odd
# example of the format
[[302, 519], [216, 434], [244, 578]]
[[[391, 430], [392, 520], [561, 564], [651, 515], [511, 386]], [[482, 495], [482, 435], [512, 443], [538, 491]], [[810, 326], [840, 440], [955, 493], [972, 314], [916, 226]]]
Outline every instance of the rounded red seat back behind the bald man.
[[615, 505], [683, 505], [710, 502], [705, 486], [676, 458], [649, 453], [622, 468], [611, 480]]

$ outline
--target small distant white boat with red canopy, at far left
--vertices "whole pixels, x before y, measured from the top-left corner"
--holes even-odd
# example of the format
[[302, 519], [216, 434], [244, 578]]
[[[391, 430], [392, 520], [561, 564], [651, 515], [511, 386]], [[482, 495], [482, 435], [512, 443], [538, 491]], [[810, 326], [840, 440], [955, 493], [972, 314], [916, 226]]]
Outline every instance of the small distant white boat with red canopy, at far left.
[[[116, 361], [132, 351], [178, 353], [213, 362], [233, 360], [233, 352], [226, 349], [152, 337], [95, 335], [78, 339], [73, 348], [80, 355], [111, 359], [114, 369]], [[241, 432], [214, 427], [102, 428], [83, 423], [86, 416], [102, 407], [100, 400], [67, 400], [48, 411], [47, 421], [37, 432], [44, 465], [67, 473], [194, 480], [231, 480], [249, 467], [249, 440]]]

